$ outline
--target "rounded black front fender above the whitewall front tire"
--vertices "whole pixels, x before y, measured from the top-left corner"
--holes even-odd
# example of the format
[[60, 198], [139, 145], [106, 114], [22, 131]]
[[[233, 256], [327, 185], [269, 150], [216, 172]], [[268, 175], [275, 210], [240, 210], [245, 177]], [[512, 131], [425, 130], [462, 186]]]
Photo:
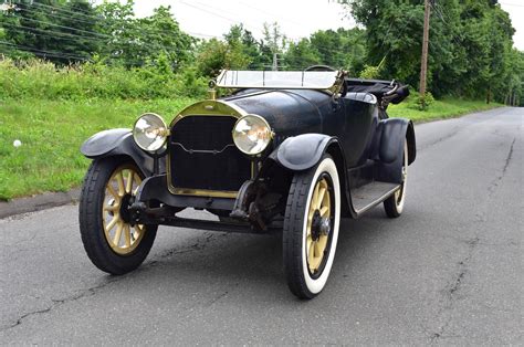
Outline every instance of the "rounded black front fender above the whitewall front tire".
[[290, 137], [271, 154], [271, 157], [290, 170], [302, 171], [314, 167], [334, 141], [335, 137], [323, 134]]

